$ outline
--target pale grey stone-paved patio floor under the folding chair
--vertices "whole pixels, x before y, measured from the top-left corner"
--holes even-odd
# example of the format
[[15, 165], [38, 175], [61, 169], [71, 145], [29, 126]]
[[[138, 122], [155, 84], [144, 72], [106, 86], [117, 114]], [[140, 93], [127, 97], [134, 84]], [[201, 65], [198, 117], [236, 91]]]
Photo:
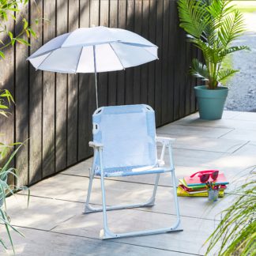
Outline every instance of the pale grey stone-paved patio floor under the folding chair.
[[[17, 255], [203, 255], [205, 239], [220, 220], [220, 211], [235, 195], [232, 188], [246, 179], [256, 165], [256, 113], [225, 111], [223, 119], [202, 121], [198, 113], [157, 129], [175, 137], [174, 159], [178, 178], [203, 169], [223, 171], [231, 183], [216, 203], [207, 198], [179, 198], [183, 232], [100, 240], [102, 213], [82, 214], [92, 159], [44, 179], [30, 187], [27, 198], [8, 198], [12, 224], [25, 238], [13, 233]], [[152, 190], [153, 176], [107, 179], [107, 204], [143, 201]], [[156, 205], [152, 208], [108, 212], [115, 232], [163, 228], [174, 220], [171, 179], [161, 175]], [[92, 202], [101, 204], [100, 179], [95, 179]], [[6, 235], [0, 229], [1, 237]], [[0, 254], [8, 254], [2, 251]], [[11, 254], [11, 250], [9, 250]]]

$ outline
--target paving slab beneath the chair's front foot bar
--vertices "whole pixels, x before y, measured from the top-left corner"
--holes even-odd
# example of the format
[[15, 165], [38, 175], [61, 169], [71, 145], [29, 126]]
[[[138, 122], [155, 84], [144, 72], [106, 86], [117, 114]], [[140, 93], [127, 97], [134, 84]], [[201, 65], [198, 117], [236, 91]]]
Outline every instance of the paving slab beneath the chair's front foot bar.
[[[164, 228], [175, 221], [174, 216], [160, 213], [147, 213], [134, 210], [122, 210], [122, 213], [111, 211], [108, 214], [108, 223], [113, 232], [130, 232], [141, 229]], [[205, 248], [201, 245], [213, 232], [218, 221], [193, 219], [183, 217], [183, 232], [174, 232], [160, 235], [145, 235], [119, 239], [119, 242], [154, 247], [164, 250], [175, 250], [188, 254], [204, 254]], [[54, 228], [54, 232], [99, 238], [103, 227], [101, 213], [77, 215], [64, 224]]]

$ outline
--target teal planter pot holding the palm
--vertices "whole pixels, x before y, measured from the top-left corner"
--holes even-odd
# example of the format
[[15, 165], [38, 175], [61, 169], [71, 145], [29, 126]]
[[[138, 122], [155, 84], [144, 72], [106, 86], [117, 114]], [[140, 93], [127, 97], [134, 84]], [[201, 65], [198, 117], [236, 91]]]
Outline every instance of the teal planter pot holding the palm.
[[209, 90], [205, 85], [201, 85], [195, 86], [194, 92], [198, 100], [200, 119], [221, 119], [228, 96], [228, 88], [218, 87], [215, 90]]

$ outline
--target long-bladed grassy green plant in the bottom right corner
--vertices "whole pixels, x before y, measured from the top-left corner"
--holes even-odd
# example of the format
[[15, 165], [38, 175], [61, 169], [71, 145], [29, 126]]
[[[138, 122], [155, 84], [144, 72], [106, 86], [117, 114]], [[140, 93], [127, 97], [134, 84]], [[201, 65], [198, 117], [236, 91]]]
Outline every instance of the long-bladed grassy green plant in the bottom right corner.
[[256, 254], [256, 179], [248, 180], [235, 190], [239, 194], [235, 202], [221, 213], [220, 224], [205, 242], [209, 242], [206, 255], [212, 255], [218, 243], [221, 256]]

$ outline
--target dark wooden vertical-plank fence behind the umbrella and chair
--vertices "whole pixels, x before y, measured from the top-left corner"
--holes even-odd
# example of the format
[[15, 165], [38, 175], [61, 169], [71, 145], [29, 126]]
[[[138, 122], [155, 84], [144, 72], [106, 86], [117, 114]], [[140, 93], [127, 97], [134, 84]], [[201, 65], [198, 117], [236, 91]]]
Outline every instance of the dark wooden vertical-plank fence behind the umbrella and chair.
[[[149, 104], [162, 126], [196, 110], [187, 70], [197, 51], [179, 28], [177, 6], [171, 0], [41, 0], [30, 2], [24, 16], [31, 21], [37, 9], [51, 22], [37, 27], [31, 47], [18, 45], [0, 62], [0, 85], [15, 96], [13, 115], [0, 122], [0, 141], [28, 141], [15, 164], [20, 185], [32, 184], [85, 160], [92, 152], [92, 113], [96, 109], [92, 74], [36, 71], [26, 62], [43, 43], [79, 27], [104, 25], [126, 28], [159, 47], [156, 62], [126, 71], [100, 73], [100, 106]], [[15, 28], [13, 28], [15, 30]]]

